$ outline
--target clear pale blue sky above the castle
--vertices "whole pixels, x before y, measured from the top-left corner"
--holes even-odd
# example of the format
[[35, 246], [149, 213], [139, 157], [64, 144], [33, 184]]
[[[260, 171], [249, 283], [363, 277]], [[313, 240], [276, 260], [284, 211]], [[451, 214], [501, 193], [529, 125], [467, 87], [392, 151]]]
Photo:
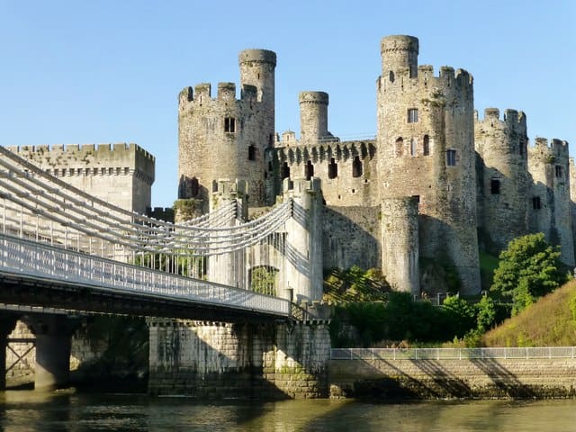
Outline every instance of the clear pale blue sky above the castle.
[[[157, 157], [152, 203], [177, 183], [177, 94], [238, 83], [238, 52], [272, 49], [276, 130], [298, 93], [329, 93], [329, 130], [374, 135], [380, 40], [474, 76], [475, 106], [527, 113], [528, 134], [576, 156], [576, 2], [0, 0], [0, 144], [136, 142]], [[215, 90], [214, 90], [215, 93]]]

